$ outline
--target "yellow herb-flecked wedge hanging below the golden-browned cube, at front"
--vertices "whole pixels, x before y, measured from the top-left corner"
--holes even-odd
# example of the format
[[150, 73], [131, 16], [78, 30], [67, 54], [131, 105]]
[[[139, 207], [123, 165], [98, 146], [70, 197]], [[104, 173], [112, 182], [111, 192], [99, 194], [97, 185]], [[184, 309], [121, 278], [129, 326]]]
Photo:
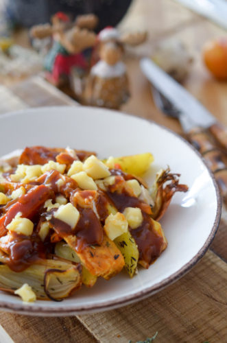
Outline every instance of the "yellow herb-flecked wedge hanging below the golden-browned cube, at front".
[[132, 278], [136, 272], [139, 259], [139, 250], [136, 246], [136, 241], [128, 231], [127, 233], [123, 233], [119, 237], [115, 238], [114, 242], [123, 255], [126, 263], [125, 268]]

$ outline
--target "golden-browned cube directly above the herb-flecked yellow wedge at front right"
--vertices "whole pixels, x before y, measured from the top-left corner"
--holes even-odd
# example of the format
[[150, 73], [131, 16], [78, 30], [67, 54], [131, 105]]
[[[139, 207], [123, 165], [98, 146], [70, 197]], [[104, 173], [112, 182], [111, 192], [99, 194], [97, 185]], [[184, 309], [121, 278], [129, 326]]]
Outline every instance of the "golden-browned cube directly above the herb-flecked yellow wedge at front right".
[[128, 231], [128, 222], [126, 217], [119, 212], [115, 215], [110, 213], [105, 220], [104, 230], [106, 235], [113, 241], [116, 237]]

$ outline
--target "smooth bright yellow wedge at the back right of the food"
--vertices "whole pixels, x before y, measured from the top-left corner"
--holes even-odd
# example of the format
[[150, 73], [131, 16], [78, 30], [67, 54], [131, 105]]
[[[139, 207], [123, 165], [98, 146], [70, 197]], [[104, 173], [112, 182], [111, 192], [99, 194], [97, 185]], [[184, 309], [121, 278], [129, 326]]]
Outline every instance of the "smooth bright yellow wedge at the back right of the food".
[[144, 154], [136, 154], [131, 156], [108, 158], [106, 165], [109, 168], [115, 167], [116, 164], [121, 166], [123, 171], [128, 174], [141, 176], [150, 167], [150, 164], [154, 161], [154, 157], [150, 152]]

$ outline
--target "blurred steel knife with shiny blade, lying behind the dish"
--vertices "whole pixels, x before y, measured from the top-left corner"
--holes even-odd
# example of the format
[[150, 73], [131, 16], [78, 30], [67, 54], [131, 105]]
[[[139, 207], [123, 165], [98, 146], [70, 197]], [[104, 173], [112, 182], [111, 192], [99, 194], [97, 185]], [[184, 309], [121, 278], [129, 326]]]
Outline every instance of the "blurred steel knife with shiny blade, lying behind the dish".
[[155, 88], [184, 113], [184, 120], [186, 121], [188, 117], [195, 126], [208, 128], [227, 152], [227, 129], [193, 95], [150, 58], [142, 58], [140, 64], [143, 73]]

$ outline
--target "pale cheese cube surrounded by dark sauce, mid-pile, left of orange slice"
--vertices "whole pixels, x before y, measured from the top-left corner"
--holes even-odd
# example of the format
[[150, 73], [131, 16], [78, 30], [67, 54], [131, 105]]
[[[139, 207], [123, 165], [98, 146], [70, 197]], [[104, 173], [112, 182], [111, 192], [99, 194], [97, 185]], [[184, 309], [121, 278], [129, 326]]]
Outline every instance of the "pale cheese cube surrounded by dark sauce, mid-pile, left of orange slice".
[[75, 228], [80, 218], [80, 212], [69, 202], [66, 205], [60, 205], [58, 211], [53, 214], [53, 217], [67, 223], [71, 228]]

